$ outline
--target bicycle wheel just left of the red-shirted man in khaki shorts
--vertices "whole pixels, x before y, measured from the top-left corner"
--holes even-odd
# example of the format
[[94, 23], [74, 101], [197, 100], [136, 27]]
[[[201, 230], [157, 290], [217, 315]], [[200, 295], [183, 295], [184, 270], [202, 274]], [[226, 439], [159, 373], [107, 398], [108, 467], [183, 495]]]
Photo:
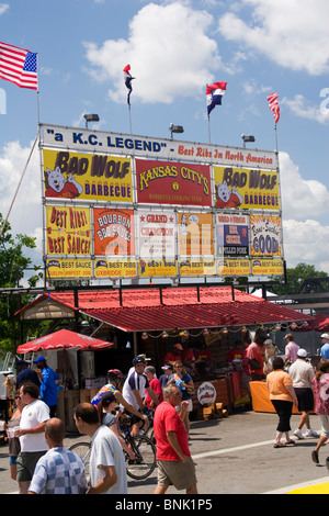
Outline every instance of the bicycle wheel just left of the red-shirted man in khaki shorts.
[[129, 460], [125, 453], [127, 474], [134, 480], [147, 479], [157, 465], [156, 447], [146, 436], [132, 437], [132, 446], [136, 458]]

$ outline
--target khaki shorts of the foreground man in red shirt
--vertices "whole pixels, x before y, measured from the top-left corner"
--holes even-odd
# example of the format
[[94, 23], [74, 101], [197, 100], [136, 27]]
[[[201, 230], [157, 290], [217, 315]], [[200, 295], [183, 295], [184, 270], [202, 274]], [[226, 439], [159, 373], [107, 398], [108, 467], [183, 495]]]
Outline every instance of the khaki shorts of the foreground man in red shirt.
[[173, 485], [178, 491], [196, 485], [195, 465], [192, 457], [181, 460], [158, 460], [158, 485]]

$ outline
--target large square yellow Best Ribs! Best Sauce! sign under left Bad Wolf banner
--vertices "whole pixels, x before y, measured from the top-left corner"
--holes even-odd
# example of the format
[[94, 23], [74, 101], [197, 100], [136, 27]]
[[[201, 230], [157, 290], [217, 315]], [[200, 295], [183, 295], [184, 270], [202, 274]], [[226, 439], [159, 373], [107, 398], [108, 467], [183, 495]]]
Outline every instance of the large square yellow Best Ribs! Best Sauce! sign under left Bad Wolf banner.
[[47, 255], [91, 255], [90, 210], [46, 206]]

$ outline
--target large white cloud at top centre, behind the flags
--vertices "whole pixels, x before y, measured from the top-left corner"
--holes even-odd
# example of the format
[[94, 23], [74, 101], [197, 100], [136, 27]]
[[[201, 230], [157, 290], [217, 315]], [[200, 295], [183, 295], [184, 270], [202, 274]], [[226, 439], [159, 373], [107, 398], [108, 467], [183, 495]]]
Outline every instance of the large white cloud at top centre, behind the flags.
[[[111, 81], [110, 96], [126, 99], [123, 68], [129, 64], [133, 94], [141, 102], [170, 103], [178, 96], [193, 96], [213, 82], [224, 68], [215, 40], [207, 33], [214, 20], [189, 4], [149, 3], [131, 21], [128, 40], [107, 40], [101, 47], [84, 43], [89, 72], [99, 81]], [[235, 60], [242, 56], [237, 54]]]

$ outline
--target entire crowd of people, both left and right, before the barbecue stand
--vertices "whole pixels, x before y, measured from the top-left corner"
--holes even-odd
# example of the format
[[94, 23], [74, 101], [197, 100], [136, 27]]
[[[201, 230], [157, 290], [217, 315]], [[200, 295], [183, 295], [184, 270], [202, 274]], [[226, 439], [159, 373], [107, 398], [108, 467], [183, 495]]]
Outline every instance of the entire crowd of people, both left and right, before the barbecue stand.
[[[284, 358], [277, 355], [266, 335], [256, 333], [247, 347], [237, 341], [227, 355], [237, 361], [242, 390], [250, 380], [263, 380], [279, 416], [274, 448], [294, 445], [290, 437], [291, 417], [295, 405], [300, 413], [294, 430], [297, 439], [318, 438], [311, 460], [319, 463], [319, 450], [329, 439], [329, 335], [322, 334], [320, 360], [315, 371], [292, 334], [285, 336]], [[171, 357], [172, 358], [172, 357]], [[123, 450], [134, 460], [134, 452], [122, 438], [115, 408], [135, 416], [132, 435], [149, 424], [154, 413], [157, 448], [158, 484], [155, 494], [163, 494], [170, 485], [196, 494], [196, 474], [189, 448], [193, 379], [178, 357], [156, 369], [147, 364], [145, 355], [134, 358], [126, 378], [118, 369], [107, 371], [107, 381], [89, 403], [75, 408], [75, 423], [80, 434], [91, 439], [90, 483], [83, 461], [64, 446], [65, 425], [56, 415], [54, 390], [56, 373], [44, 357], [35, 360], [37, 370], [19, 361], [15, 410], [8, 422], [10, 472], [21, 494], [126, 494], [127, 476]], [[310, 427], [309, 414], [319, 414], [321, 434]], [[118, 413], [117, 413], [118, 414]], [[302, 429], [306, 428], [305, 436]], [[282, 441], [282, 439], [284, 440]], [[329, 469], [329, 458], [326, 461]]]

